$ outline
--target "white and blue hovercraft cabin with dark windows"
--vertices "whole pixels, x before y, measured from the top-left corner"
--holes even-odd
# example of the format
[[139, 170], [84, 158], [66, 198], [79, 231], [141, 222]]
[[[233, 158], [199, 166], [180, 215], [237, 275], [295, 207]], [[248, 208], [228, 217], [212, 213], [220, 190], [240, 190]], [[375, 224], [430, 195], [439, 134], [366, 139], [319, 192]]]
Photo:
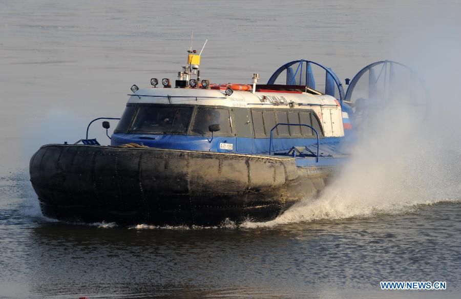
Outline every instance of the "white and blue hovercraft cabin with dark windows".
[[338, 140], [344, 136], [340, 103], [307, 90], [259, 88], [227, 95], [204, 88], [141, 89], [130, 94], [111, 145], [267, 154], [271, 131], [276, 152], [317, 144], [317, 135], [320, 143]]

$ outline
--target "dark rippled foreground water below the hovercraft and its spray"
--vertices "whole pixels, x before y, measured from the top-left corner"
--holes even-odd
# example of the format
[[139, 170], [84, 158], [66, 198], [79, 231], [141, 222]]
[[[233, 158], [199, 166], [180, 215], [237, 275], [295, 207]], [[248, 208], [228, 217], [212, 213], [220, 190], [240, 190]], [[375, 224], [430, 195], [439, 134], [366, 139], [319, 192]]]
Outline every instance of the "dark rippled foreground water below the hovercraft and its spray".
[[[136, 228], [39, 216], [27, 175], [2, 178], [7, 297], [458, 297], [461, 206], [271, 228]], [[447, 291], [380, 291], [382, 280]]]

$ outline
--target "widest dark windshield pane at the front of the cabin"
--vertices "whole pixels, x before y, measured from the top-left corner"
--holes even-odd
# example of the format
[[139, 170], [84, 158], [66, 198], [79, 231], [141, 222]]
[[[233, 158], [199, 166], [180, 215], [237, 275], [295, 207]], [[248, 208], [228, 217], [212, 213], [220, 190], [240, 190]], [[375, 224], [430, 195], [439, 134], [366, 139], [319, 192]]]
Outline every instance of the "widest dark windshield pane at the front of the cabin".
[[139, 106], [131, 131], [184, 133], [191, 120], [192, 107]]

